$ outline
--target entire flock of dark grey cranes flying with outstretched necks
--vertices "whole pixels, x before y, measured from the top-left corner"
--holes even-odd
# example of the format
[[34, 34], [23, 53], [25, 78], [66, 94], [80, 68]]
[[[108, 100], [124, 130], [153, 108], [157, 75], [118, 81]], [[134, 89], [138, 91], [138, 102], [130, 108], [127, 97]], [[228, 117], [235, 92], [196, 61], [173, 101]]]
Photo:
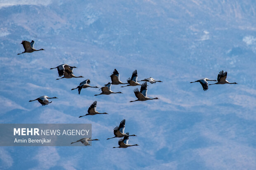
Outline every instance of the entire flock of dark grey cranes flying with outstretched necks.
[[[19, 53], [17, 55], [23, 54], [23, 53], [32, 53], [34, 51], [40, 51], [40, 50], [44, 50], [43, 48], [41, 48], [40, 50], [36, 50], [35, 48], [33, 48], [35, 41], [22, 41], [21, 44], [24, 47], [24, 52]], [[61, 64], [55, 68], [50, 68], [50, 69], [57, 69], [58, 70], [58, 74], [59, 77], [61, 78], [57, 78], [56, 80], [62, 79], [62, 78], [83, 78], [83, 76], [74, 76], [73, 74], [73, 69], [75, 69], [77, 67], [75, 66], [69, 66], [68, 64]], [[137, 81], [138, 75], [137, 75], [137, 70], [133, 71], [133, 74], [131, 76], [131, 78], [127, 79], [127, 83], [123, 83], [120, 80], [120, 74], [119, 72], [114, 69], [113, 73], [110, 75], [111, 78], [111, 83], [107, 83], [104, 85], [104, 87], [101, 87], [100, 90], [102, 91], [100, 94], [95, 94], [95, 96], [101, 95], [101, 94], [105, 94], [105, 95], [109, 95], [109, 94], [115, 94], [115, 93], [122, 93], [122, 92], [113, 92], [111, 91], [111, 85], [125, 85], [126, 86], [121, 86], [121, 87], [127, 87], [127, 86], [137, 86], [140, 85], [140, 90], [138, 88], [136, 88], [135, 90], [133, 90], [137, 100], [134, 101], [147, 101], [147, 100], [154, 100], [154, 99], [159, 99], [157, 97], [155, 98], [149, 98], [147, 96], [147, 82], [154, 84], [156, 82], [162, 82], [160, 80], [154, 80], [154, 78], [150, 77], [150, 78], [146, 78], [140, 81], [144, 81], [144, 83], [140, 84]], [[227, 72], [224, 71], [220, 71], [220, 73], [218, 74], [218, 78], [217, 80], [210, 80], [208, 78], [202, 78], [200, 80], [196, 80], [194, 82], [190, 82], [190, 83], [195, 83], [195, 82], [199, 82], [202, 87], [203, 90], [206, 91], [208, 90], [208, 82], [207, 81], [218, 81], [217, 83], [214, 84], [210, 84], [210, 85], [215, 85], [215, 84], [237, 84], [237, 83], [229, 83], [228, 80], [226, 80], [227, 78]], [[78, 89], [78, 94], [81, 93], [81, 90], [83, 88], [88, 88], [88, 87], [92, 87], [92, 88], [99, 88], [97, 86], [90, 86], [90, 80], [86, 79], [84, 81], [82, 81], [79, 86], [77, 86], [76, 88], [73, 88], [71, 90], [75, 90]], [[35, 99], [35, 100], [30, 100], [30, 101], [38, 101], [39, 103], [42, 104], [42, 106], [45, 106], [49, 103], [52, 103], [52, 101], [48, 101], [48, 99], [57, 99], [57, 97], [48, 97], [48, 96], [40, 96], [39, 98]], [[134, 101], [130, 101], [130, 102], [134, 102]], [[99, 113], [96, 111], [96, 107], [97, 107], [97, 101], [94, 101], [90, 107], [88, 108], [88, 113], [86, 115], [82, 115], [80, 117], [84, 117], [87, 115], [97, 115], [97, 114], [108, 114], [108, 113]], [[80, 118], [79, 117], [79, 118]], [[116, 126], [114, 128], [114, 137], [113, 138], [122, 138], [119, 140], [118, 144], [119, 147], [118, 148], [127, 148], [127, 147], [131, 147], [131, 146], [139, 146], [137, 144], [135, 145], [129, 145], [128, 144], [128, 140], [129, 140], [129, 136], [136, 136], [136, 135], [129, 135], [129, 132], [124, 132], [125, 129], [125, 119], [123, 119], [121, 121], [121, 123], [119, 124], [119, 126]], [[109, 140], [111, 138], [108, 138], [107, 140]], [[93, 140], [98, 140], [98, 139], [93, 139]], [[90, 145], [90, 143], [88, 141], [93, 141], [91, 138], [82, 138], [80, 140], [77, 140], [76, 142], [81, 142], [83, 143], [83, 145], [87, 146]], [[71, 142], [71, 144], [73, 144], [75, 142]], [[117, 148], [117, 147], [113, 147], [113, 148]]]

